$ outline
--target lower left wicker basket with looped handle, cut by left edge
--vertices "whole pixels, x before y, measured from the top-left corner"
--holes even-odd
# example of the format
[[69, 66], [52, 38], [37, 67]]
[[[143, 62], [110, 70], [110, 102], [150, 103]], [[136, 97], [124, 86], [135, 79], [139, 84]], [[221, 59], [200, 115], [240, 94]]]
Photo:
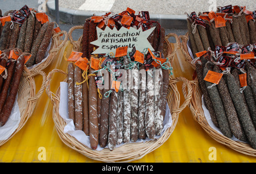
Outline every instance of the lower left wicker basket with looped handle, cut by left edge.
[[[40, 74], [43, 76], [42, 86], [38, 90], [38, 93], [36, 93], [36, 85], [34, 80], [35, 74]], [[13, 134], [11, 134], [11, 136], [9, 136], [8, 139], [0, 140], [0, 146], [10, 140], [26, 124], [35, 109], [36, 102], [44, 92], [45, 88], [46, 73], [43, 71], [34, 71], [34, 74], [32, 74], [26, 67], [24, 67], [23, 76], [20, 79], [17, 100], [20, 111], [20, 122], [16, 130], [13, 132]]]

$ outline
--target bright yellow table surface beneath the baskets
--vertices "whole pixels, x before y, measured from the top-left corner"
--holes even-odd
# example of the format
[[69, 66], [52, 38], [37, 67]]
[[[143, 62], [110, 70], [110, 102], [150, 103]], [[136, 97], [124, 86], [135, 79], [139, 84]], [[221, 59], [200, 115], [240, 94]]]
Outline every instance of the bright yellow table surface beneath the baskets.
[[[174, 45], [172, 45], [173, 47]], [[68, 41], [57, 55], [57, 59], [44, 69], [48, 74], [52, 69], [67, 71], [67, 62], [64, 61], [64, 52], [68, 56], [72, 51], [72, 45]], [[192, 80], [193, 69], [185, 61], [180, 49], [177, 49], [172, 64], [174, 77], [185, 77]], [[60, 81], [65, 77], [56, 73], [52, 77], [51, 91], [59, 88]], [[42, 85], [42, 77], [35, 77], [36, 86]], [[181, 92], [181, 84], [177, 84], [180, 91], [180, 103], [183, 103], [184, 96]], [[39, 89], [36, 88], [36, 89]], [[24, 101], [26, 102], [26, 101]], [[67, 147], [59, 138], [52, 119], [52, 103], [46, 92], [39, 98], [34, 113], [26, 125], [0, 147], [0, 162], [46, 162], [46, 163], [96, 163], [99, 161], [86, 158], [79, 152]], [[224, 146], [210, 138], [200, 127], [199, 123], [193, 120], [189, 107], [185, 107], [179, 115], [179, 121], [170, 138], [155, 151], [143, 156], [133, 163], [241, 163], [256, 162], [256, 158], [243, 155]]]

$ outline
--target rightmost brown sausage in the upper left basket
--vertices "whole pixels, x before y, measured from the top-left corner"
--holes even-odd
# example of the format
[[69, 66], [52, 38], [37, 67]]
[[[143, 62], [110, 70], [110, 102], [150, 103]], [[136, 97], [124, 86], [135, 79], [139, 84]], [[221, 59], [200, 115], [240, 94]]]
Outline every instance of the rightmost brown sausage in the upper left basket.
[[44, 34], [44, 38], [42, 40], [42, 43], [40, 44], [40, 47], [38, 49], [38, 53], [36, 54], [36, 59], [35, 59], [36, 64], [39, 64], [44, 59], [44, 55], [46, 54], [47, 47], [48, 47], [49, 42], [52, 38], [53, 27], [54, 27], [53, 22], [48, 24], [48, 27], [46, 29], [46, 33]]

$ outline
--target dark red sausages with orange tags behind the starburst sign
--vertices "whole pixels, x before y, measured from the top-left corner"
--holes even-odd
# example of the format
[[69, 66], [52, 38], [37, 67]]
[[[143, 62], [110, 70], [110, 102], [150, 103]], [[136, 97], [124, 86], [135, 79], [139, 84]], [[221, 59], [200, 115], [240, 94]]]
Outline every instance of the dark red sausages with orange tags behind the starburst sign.
[[[161, 27], [158, 22], [150, 20], [149, 14], [146, 15], [146, 13], [146, 11], [142, 11], [141, 15], [135, 15], [135, 12], [130, 11], [128, 8], [126, 11], [119, 14], [110, 15], [111, 13], [108, 13], [103, 16], [92, 16], [91, 18], [86, 19], [82, 36], [82, 57], [86, 57], [88, 60], [90, 59], [95, 47], [95, 45], [90, 44], [90, 42], [97, 40], [96, 27], [100, 27], [104, 30], [106, 26], [109, 26], [110, 28], [116, 27], [117, 30], [121, 27], [142, 27], [143, 31], [155, 27], [155, 30], [147, 39], [155, 51], [163, 53], [165, 29], [164, 27]], [[129, 26], [121, 23], [122, 16], [130, 16], [133, 18]]]

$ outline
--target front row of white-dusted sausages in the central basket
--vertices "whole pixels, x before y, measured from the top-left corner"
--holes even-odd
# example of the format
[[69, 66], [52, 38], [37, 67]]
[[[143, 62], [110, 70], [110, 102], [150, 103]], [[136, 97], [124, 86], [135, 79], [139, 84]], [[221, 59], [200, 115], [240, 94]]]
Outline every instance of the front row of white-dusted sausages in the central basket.
[[[119, 57], [122, 65], [130, 64], [127, 56]], [[93, 150], [98, 146], [114, 150], [117, 144], [136, 142], [138, 139], [154, 139], [163, 130], [163, 119], [166, 114], [167, 90], [169, 82], [168, 69], [160, 66], [148, 69], [145, 76], [140, 76], [144, 65], [133, 67], [132, 73], [127, 73], [127, 88], [110, 89], [112, 74], [104, 74], [108, 78], [108, 88], [99, 88], [97, 75], [93, 76], [94, 69], [89, 67], [88, 81], [84, 81], [82, 71], [73, 63], [68, 65], [68, 111], [69, 118], [73, 119], [76, 130], [82, 130], [90, 136], [90, 145]], [[130, 80], [133, 79], [133, 80]], [[78, 82], [78, 83], [77, 83]], [[81, 83], [82, 82], [82, 83]], [[129, 88], [129, 84], [139, 88]], [[155, 86], [160, 86], [155, 93]], [[109, 95], [108, 95], [109, 94]]]

